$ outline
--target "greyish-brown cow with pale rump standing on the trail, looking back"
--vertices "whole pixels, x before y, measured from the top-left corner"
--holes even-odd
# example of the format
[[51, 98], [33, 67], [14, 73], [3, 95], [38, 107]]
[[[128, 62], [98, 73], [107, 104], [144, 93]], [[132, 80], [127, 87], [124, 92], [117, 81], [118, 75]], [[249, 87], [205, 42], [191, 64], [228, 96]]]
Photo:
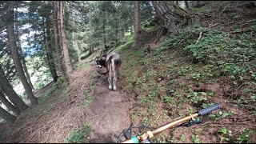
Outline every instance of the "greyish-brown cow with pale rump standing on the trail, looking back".
[[117, 79], [118, 79], [118, 70], [121, 66], [121, 58], [117, 53], [109, 53], [103, 54], [102, 56], [96, 57], [96, 65], [98, 68], [102, 68], [102, 66], [106, 67], [106, 73], [99, 74], [107, 74], [108, 82], [109, 82], [109, 90], [112, 90], [112, 82], [113, 82], [113, 90], [117, 90]]

